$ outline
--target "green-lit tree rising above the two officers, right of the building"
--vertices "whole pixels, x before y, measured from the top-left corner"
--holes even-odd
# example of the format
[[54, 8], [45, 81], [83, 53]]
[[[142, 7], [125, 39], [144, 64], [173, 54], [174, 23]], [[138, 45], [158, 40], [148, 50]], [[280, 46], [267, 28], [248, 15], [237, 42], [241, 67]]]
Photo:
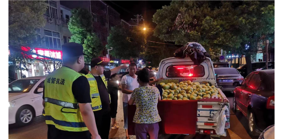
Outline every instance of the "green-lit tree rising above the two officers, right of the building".
[[92, 58], [101, 54], [103, 46], [93, 32], [92, 15], [84, 8], [74, 8], [71, 10], [71, 18], [68, 23], [72, 34], [70, 42], [79, 43], [83, 46], [85, 61], [88, 63]]

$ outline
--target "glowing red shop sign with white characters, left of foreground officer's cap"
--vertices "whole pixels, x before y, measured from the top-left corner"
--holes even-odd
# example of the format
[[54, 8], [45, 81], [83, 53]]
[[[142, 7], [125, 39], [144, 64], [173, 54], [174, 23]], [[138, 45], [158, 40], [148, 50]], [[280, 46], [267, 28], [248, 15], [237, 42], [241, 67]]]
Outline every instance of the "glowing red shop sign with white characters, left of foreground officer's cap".
[[[21, 47], [21, 49], [23, 51], [30, 51], [30, 47]], [[50, 57], [50, 58], [54, 58], [54, 59], [60, 59], [62, 60], [62, 56], [63, 53], [60, 50], [51, 50], [51, 49], [43, 49], [43, 48], [34, 48], [31, 50], [33, 53], [36, 53], [38, 55], [41, 56], [45, 56], [45, 57]], [[50, 60], [48, 58], [43, 58], [37, 55], [29, 55], [28, 58], [34, 58], [34, 59], [46, 59], [46, 60]]]

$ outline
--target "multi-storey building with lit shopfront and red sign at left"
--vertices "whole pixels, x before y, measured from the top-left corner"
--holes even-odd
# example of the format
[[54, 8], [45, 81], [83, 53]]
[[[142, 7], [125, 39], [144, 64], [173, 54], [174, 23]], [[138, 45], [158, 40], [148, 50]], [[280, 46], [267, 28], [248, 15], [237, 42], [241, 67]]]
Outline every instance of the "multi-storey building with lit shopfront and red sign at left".
[[[36, 46], [25, 46], [23, 51], [32, 51], [33, 53], [46, 57], [59, 59], [59, 61], [51, 62], [50, 59], [40, 56], [29, 56], [29, 65], [23, 68], [28, 70], [16, 70], [16, 78], [21, 78], [22, 75], [42, 76], [47, 75], [54, 70], [54, 67], [60, 67], [62, 63], [62, 45], [68, 43], [71, 39], [71, 32], [68, 29], [68, 21], [71, 17], [71, 9], [60, 4], [60, 1], [47, 0], [48, 8], [44, 13], [46, 24], [44, 27], [37, 29], [37, 39], [39, 41]], [[32, 50], [30, 49], [32, 48]]]

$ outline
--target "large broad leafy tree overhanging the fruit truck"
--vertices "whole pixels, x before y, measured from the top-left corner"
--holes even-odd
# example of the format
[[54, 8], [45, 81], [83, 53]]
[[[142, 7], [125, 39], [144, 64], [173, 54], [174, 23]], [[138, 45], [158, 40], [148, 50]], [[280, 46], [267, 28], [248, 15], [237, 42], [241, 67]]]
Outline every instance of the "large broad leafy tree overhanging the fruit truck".
[[260, 36], [274, 32], [274, 1], [172, 1], [156, 11], [153, 22], [154, 35], [165, 41], [246, 55], [249, 73]]

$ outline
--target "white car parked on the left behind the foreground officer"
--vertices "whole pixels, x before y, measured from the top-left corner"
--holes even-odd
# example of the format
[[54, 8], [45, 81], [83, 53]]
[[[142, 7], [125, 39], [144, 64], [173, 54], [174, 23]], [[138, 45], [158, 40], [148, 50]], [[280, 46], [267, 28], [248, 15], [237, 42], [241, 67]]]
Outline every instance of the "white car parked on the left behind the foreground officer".
[[9, 124], [24, 126], [42, 115], [46, 76], [27, 77], [9, 83]]

